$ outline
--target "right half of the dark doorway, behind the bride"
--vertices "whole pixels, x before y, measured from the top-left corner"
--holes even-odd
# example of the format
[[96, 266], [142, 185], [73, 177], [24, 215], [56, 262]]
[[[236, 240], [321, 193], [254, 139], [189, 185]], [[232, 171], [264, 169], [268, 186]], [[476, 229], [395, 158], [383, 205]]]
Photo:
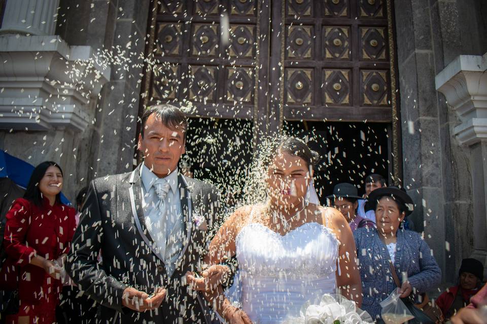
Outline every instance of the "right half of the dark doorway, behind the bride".
[[353, 183], [365, 192], [363, 178], [378, 173], [388, 178], [388, 125], [381, 123], [324, 123], [285, 121], [287, 134], [308, 142], [320, 153], [315, 168], [315, 187], [321, 203], [340, 182]]

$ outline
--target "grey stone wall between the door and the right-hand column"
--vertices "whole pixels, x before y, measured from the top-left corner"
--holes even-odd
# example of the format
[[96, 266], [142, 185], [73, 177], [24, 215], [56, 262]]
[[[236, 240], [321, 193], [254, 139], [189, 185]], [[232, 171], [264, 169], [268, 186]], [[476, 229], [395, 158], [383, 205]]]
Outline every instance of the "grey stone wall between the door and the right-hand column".
[[461, 54], [487, 51], [487, 2], [395, 6], [404, 184], [418, 203], [411, 218], [424, 228], [444, 280], [455, 282], [474, 246], [472, 165], [468, 148], [454, 137], [459, 118], [436, 92], [435, 76]]

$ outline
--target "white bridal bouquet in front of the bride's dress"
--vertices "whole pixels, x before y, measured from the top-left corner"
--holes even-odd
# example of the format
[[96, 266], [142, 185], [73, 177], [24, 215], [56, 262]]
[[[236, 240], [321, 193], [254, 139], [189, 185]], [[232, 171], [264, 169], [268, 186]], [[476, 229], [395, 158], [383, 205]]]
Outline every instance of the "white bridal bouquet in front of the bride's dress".
[[372, 317], [355, 307], [353, 301], [337, 295], [325, 294], [318, 303], [307, 302], [300, 311], [300, 317], [287, 318], [284, 324], [365, 324], [372, 323]]

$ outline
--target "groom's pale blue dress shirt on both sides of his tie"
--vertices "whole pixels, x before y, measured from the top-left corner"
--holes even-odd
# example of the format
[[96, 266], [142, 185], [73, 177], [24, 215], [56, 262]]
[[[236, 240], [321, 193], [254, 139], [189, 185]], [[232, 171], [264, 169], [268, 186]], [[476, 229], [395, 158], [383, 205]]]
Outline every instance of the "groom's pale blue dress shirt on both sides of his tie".
[[[144, 219], [147, 222], [149, 214], [154, 209], [156, 204], [159, 202], [159, 197], [152, 184], [159, 179], [145, 164], [141, 167], [141, 179], [142, 179], [142, 210], [144, 212]], [[172, 231], [172, 228], [176, 224], [179, 217], [182, 216], [181, 209], [181, 198], [179, 193], [178, 184], [178, 168], [172, 171], [169, 175], [164, 177], [164, 179], [169, 183], [171, 189], [166, 194], [164, 198], [164, 204], [168, 204], [166, 208], [166, 226], [164, 234], [164, 241], [167, 242], [167, 238]]]

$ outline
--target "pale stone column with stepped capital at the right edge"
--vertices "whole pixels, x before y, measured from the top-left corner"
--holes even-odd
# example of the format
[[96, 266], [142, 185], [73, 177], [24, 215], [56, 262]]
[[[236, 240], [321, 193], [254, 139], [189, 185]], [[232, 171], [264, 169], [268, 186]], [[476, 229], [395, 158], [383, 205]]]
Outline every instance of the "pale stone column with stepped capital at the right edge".
[[[472, 258], [487, 274], [487, 53], [461, 55], [436, 76], [436, 89], [457, 112], [461, 124], [455, 136], [470, 151], [473, 191]], [[461, 217], [461, 215], [459, 215]]]

